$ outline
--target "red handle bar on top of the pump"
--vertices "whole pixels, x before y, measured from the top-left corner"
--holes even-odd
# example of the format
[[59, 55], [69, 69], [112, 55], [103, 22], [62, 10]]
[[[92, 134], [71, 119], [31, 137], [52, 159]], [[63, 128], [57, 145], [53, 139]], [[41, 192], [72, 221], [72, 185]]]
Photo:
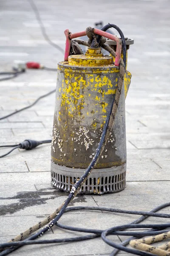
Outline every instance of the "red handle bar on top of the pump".
[[[77, 38], [80, 36], [86, 35], [85, 31], [77, 32], [74, 34], [71, 34], [68, 29], [65, 29], [65, 36], [66, 36], [66, 43], [65, 43], [65, 55], [64, 60], [68, 61], [68, 56], [70, 54], [70, 47], [71, 47], [71, 39]], [[109, 34], [105, 31], [102, 31], [100, 29], [94, 29], [94, 33], [97, 35], [104, 36], [105, 38], [111, 39], [113, 41], [116, 41], [116, 58], [115, 58], [115, 66], [119, 66], [120, 58], [121, 58], [121, 51], [122, 51], [122, 41], [120, 38], [118, 38], [116, 35]]]

